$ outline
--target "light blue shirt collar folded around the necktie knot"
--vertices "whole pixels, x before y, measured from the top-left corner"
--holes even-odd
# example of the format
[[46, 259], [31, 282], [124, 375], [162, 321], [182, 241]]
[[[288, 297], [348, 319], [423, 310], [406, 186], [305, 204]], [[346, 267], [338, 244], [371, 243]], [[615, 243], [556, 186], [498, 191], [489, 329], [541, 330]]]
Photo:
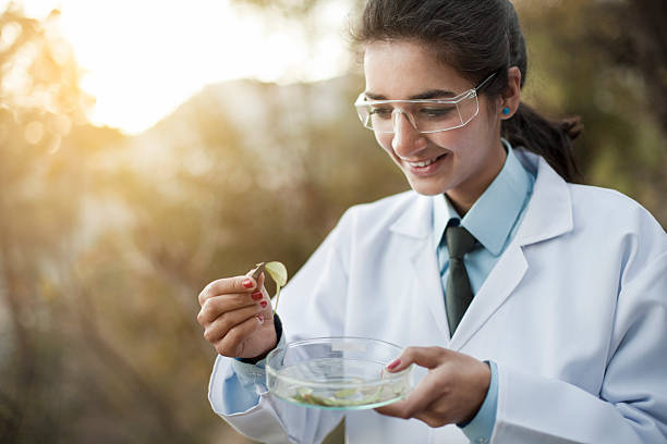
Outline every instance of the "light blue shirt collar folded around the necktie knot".
[[[494, 256], [502, 252], [533, 184], [532, 176], [517, 159], [510, 144], [501, 140], [507, 149], [507, 159], [500, 173], [461, 220], [461, 225]], [[461, 217], [444, 194], [435, 196], [433, 209], [434, 243], [437, 248], [449, 221], [460, 220]]]

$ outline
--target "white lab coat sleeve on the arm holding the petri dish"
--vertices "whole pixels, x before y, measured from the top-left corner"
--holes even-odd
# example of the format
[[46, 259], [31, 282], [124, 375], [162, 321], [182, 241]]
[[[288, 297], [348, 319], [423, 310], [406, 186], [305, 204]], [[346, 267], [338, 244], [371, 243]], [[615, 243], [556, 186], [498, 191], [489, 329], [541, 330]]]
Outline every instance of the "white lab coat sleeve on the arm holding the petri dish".
[[665, 443], [665, 369], [667, 252], [620, 288], [599, 394], [498, 363], [492, 442]]

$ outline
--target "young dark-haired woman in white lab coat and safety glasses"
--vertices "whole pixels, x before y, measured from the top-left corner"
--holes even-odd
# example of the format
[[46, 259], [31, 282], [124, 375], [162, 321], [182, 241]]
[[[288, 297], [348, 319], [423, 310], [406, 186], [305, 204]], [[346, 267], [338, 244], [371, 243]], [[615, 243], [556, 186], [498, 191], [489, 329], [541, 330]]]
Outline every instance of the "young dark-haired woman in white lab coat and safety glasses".
[[666, 442], [667, 235], [628, 197], [570, 183], [578, 128], [521, 102], [512, 4], [371, 0], [356, 39], [357, 112], [412, 190], [345, 212], [281, 322], [263, 276], [204, 288], [215, 411], [258, 441], [319, 442], [342, 414], [269, 396], [262, 358], [364, 336], [404, 346], [389, 371], [415, 363], [419, 384], [347, 414], [349, 443]]

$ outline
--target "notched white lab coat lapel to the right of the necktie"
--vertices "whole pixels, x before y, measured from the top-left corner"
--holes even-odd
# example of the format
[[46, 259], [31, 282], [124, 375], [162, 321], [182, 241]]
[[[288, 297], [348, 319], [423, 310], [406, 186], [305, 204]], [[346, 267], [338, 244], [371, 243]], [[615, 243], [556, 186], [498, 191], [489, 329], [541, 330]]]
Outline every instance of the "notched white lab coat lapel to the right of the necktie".
[[[538, 161], [537, 161], [538, 159]], [[523, 247], [572, 230], [572, 206], [567, 183], [542, 158], [533, 158], [537, 177], [525, 217], [457, 326], [449, 348], [459, 350], [517, 288], [530, 262]]]

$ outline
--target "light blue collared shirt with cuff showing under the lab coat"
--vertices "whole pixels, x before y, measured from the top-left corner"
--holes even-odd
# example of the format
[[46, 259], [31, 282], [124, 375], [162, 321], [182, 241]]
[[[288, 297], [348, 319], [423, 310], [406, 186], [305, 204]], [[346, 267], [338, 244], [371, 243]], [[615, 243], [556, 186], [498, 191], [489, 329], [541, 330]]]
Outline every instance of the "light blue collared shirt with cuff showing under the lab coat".
[[[446, 243], [440, 245], [440, 239], [450, 221], [460, 222], [482, 246], [463, 257], [473, 294], [477, 294], [521, 225], [525, 208], [533, 194], [535, 177], [517, 159], [510, 144], [505, 139], [502, 144], [507, 150], [505, 165], [463, 219], [445, 195], [439, 195], [434, 199], [433, 243], [438, 252], [444, 293], [449, 275], [449, 254]], [[498, 373], [495, 362], [490, 361], [489, 367], [492, 379], [486, 398], [477, 415], [462, 427], [463, 433], [472, 442], [488, 442], [496, 423]]]

